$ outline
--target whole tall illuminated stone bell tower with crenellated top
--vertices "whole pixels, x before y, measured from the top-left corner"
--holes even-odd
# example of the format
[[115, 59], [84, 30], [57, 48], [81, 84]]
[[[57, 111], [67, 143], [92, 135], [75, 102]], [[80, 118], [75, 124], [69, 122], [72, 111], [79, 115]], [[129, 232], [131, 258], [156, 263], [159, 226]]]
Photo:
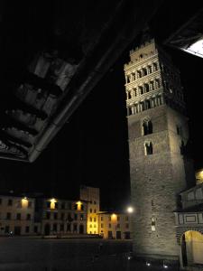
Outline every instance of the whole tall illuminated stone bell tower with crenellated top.
[[184, 155], [189, 132], [180, 74], [154, 40], [130, 51], [130, 58], [125, 90], [134, 254], [178, 260], [173, 211], [179, 192], [192, 182]]

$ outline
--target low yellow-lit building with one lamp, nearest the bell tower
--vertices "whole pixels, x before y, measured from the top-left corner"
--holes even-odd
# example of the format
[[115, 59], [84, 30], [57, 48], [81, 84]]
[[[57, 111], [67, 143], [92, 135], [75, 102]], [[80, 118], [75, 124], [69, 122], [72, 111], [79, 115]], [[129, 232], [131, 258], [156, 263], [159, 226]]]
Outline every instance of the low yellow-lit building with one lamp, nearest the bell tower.
[[132, 238], [131, 215], [121, 212], [100, 211], [98, 213], [98, 231], [103, 238]]

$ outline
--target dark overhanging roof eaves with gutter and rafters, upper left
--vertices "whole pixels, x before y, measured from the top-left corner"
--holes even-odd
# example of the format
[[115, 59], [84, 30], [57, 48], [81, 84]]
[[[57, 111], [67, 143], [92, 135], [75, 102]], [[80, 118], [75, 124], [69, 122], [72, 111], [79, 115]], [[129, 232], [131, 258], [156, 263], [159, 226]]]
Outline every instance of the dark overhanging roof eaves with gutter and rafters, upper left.
[[[5, 1], [0, 158], [35, 161], [162, 2]], [[193, 33], [167, 44], [185, 46]]]

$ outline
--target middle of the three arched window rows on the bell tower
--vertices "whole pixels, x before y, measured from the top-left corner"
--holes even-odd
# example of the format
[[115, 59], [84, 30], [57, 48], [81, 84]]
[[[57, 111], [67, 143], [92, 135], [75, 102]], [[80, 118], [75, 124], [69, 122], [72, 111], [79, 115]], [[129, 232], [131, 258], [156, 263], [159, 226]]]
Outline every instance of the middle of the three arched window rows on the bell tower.
[[144, 93], [159, 88], [161, 88], [161, 79], [152, 80], [149, 83], [144, 83], [142, 86], [138, 86], [137, 88], [127, 90], [126, 91], [127, 99], [143, 95]]

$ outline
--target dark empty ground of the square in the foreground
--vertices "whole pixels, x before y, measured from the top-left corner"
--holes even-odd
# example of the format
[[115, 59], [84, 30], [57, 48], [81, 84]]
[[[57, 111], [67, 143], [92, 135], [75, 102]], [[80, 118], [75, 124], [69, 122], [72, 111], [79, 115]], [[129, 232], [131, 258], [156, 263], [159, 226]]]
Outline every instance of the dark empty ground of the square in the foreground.
[[155, 271], [172, 270], [162, 263], [146, 266], [131, 256], [130, 240], [0, 238], [2, 271]]

